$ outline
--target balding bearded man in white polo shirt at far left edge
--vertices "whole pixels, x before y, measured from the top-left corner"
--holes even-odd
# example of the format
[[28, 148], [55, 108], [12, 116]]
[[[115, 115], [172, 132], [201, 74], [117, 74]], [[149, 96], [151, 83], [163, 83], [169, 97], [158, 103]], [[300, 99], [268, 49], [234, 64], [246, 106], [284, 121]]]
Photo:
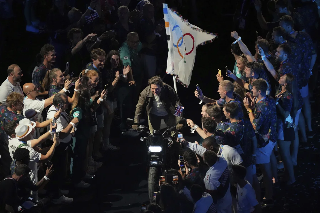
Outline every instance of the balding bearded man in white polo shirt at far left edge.
[[6, 105], [7, 96], [13, 92], [19, 93], [24, 97], [20, 86], [22, 76], [21, 68], [18, 65], [12, 64], [8, 67], [8, 78], [0, 86], [0, 102], [4, 106]]

